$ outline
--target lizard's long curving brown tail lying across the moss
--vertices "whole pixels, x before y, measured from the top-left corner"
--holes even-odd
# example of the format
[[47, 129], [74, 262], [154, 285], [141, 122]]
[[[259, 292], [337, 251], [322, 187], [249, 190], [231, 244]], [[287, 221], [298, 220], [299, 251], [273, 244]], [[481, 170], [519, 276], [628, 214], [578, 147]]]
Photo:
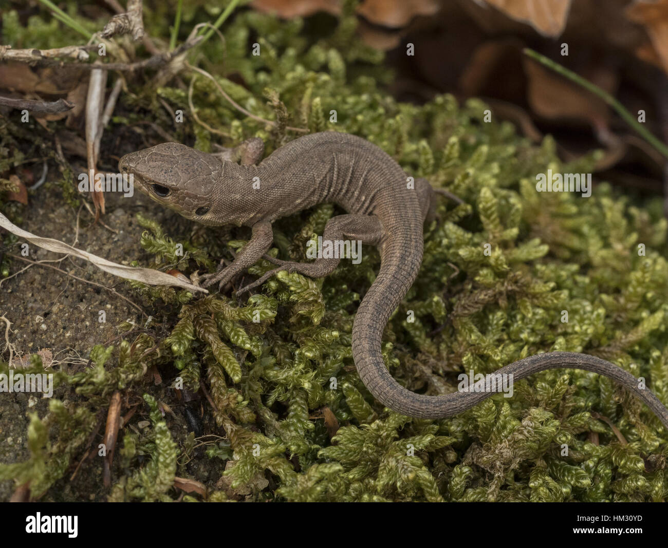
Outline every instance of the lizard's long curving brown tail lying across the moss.
[[[668, 431], [668, 410], [649, 389], [639, 388], [637, 378], [611, 362], [576, 352], [536, 354], [500, 368], [488, 375], [484, 384], [476, 383], [467, 390], [443, 396], [415, 394], [401, 386], [385, 368], [381, 338], [390, 314], [403, 299], [420, 268], [419, 260], [416, 266], [410, 257], [407, 260], [393, 260], [400, 256], [402, 248], [405, 257], [406, 243], [390, 240], [383, 246], [380, 272], [359, 305], [353, 324], [353, 358], [357, 372], [371, 394], [381, 403], [408, 417], [453, 417], [492, 394], [502, 392], [504, 388], [507, 390], [508, 386], [512, 386], [508, 385], [508, 382], [512, 383], [538, 371], [555, 368], [585, 369], [623, 384], [647, 404]], [[410, 243], [422, 245], [422, 242]], [[394, 249], [395, 247], [397, 249]], [[418, 255], [420, 256], [422, 252]], [[505, 385], [501, 379], [505, 379]]]

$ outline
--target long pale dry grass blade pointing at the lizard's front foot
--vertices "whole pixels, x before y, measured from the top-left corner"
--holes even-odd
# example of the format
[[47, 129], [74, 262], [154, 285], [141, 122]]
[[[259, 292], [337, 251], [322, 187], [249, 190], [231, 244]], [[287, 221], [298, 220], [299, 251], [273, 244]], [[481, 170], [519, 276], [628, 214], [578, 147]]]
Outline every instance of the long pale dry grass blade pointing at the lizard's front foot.
[[16, 234], [19, 238], [27, 240], [31, 244], [55, 253], [67, 253], [75, 257], [87, 260], [88, 262], [94, 264], [104, 270], [104, 272], [109, 272], [109, 274], [114, 274], [114, 276], [119, 276], [120, 278], [126, 278], [126, 280], [136, 280], [138, 282], [144, 282], [144, 284], [149, 284], [152, 286], [178, 286], [184, 289], [189, 289], [190, 291], [201, 291], [208, 293], [204, 288], [194, 286], [186, 282], [182, 282], [174, 276], [170, 276], [165, 272], [160, 272], [160, 270], [152, 270], [151, 268], [135, 268], [134, 266], [126, 266], [124, 264], [118, 264], [106, 260], [102, 257], [98, 257], [87, 251], [83, 251], [72, 246], [68, 246], [65, 242], [60, 240], [53, 240], [53, 238], [42, 238], [41, 236], [35, 236], [31, 232], [27, 232], [22, 228], [19, 228], [15, 224], [11, 223], [7, 217], [0, 213], [0, 227], [5, 230], [9, 230], [12, 234]]

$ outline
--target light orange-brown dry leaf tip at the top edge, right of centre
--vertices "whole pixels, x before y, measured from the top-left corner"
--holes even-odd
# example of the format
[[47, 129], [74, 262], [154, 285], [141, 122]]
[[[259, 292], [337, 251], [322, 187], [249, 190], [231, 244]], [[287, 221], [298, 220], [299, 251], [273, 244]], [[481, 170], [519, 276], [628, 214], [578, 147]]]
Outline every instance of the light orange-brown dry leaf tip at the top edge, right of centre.
[[528, 23], [543, 36], [556, 37], [566, 27], [571, 0], [484, 0], [511, 19]]

